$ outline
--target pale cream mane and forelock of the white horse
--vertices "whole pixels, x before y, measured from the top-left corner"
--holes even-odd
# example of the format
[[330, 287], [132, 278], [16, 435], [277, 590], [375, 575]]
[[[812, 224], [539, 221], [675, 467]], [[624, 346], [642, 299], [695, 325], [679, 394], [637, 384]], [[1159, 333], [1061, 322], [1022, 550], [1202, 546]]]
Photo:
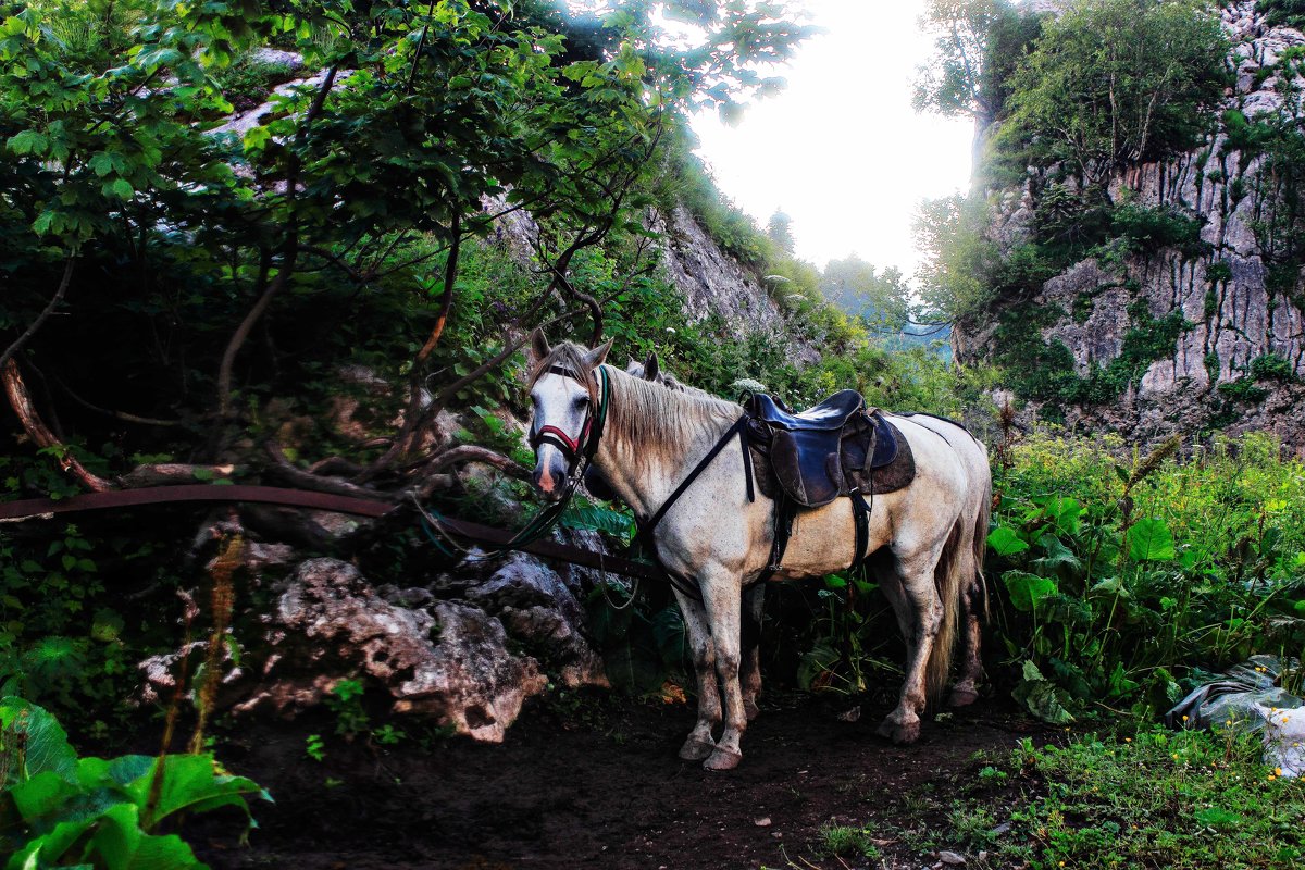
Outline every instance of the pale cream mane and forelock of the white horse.
[[[553, 347], [535, 364], [530, 386], [553, 365], [574, 369], [579, 374], [589, 372], [589, 352], [572, 342]], [[660, 383], [626, 374], [615, 365], [603, 365], [603, 369], [612, 391], [604, 437], [634, 447], [629, 453], [638, 466], [650, 464], [652, 459], [677, 458], [685, 445], [719, 437], [743, 413], [740, 406], [707, 393], [696, 395], [668, 390]], [[591, 398], [596, 399], [596, 383], [590, 380], [586, 386]]]

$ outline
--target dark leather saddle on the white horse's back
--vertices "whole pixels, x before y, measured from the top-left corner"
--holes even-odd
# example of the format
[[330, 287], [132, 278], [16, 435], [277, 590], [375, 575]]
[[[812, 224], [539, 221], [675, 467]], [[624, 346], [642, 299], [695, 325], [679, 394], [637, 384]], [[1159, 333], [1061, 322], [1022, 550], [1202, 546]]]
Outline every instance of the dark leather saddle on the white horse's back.
[[[855, 390], [842, 390], [800, 413], [757, 394], [745, 406], [749, 440], [784, 494], [804, 507], [839, 496], [880, 494], [915, 479], [915, 457], [902, 433]], [[769, 494], [769, 493], [767, 493]]]

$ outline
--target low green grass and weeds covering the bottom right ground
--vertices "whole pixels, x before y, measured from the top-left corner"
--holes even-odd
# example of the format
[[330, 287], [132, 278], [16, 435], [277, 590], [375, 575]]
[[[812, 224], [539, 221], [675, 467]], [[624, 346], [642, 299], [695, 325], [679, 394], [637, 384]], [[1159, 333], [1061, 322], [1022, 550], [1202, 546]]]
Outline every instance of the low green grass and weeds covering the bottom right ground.
[[876, 819], [826, 826], [813, 850], [857, 854], [887, 841], [895, 863], [930, 863], [947, 849], [968, 867], [1030, 870], [1305, 863], [1305, 783], [1265, 767], [1255, 737], [1160, 727], [1066, 734], [971, 764], [950, 789], [916, 789], [889, 806], [868, 794]]

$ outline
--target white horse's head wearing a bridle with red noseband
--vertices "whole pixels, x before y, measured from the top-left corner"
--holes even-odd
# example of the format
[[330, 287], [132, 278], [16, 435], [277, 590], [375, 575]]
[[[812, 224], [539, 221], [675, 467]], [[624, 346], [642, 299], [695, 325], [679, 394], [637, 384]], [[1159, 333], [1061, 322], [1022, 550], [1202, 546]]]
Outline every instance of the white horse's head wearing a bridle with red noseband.
[[531, 335], [530, 443], [535, 449], [535, 487], [556, 501], [585, 455], [592, 455], [599, 432], [599, 386], [595, 370], [612, 342], [586, 348], [570, 342], [549, 347], [542, 330]]

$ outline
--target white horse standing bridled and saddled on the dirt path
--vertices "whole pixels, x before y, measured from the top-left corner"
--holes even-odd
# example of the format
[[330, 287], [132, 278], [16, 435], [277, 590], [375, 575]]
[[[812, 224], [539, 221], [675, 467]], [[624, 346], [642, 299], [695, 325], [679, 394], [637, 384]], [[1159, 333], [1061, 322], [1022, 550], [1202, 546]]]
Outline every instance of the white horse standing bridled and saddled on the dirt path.
[[[536, 330], [530, 381], [535, 485], [545, 497], [560, 498], [587, 455], [647, 522], [733, 428], [743, 408], [603, 365], [609, 348], [611, 342], [595, 350], [572, 343], [549, 348]], [[916, 476], [904, 489], [874, 497], [865, 553], [908, 656], [900, 700], [880, 733], [911, 742], [919, 737], [927, 695], [941, 693], [947, 678], [958, 635], [967, 642], [967, 655], [951, 702], [976, 697], [977, 596], [992, 483], [987, 451], [963, 428], [924, 416], [893, 421], [911, 445]], [[771, 554], [775, 503], [760, 493], [749, 500], [748, 471], [741, 450], [720, 450], [652, 532], [666, 570], [701, 592], [698, 601], [676, 590], [698, 678], [698, 719], [680, 757], [706, 759], [709, 770], [729, 770], [743, 759], [748, 716], [739, 681], [741, 599], [767, 573]], [[756, 481], [750, 489], [757, 489]], [[853, 561], [853, 528], [848, 498], [800, 513], [783, 563], [770, 577], [823, 577], [846, 569]], [[713, 729], [722, 717], [716, 740]]]

